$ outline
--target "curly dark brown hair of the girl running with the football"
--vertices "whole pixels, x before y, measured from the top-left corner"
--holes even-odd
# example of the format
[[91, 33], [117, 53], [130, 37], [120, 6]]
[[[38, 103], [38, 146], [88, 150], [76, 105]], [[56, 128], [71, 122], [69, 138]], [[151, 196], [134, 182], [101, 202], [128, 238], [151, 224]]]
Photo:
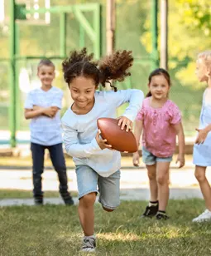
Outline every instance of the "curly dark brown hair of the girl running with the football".
[[[70, 57], [62, 62], [64, 79], [69, 86], [77, 76], [91, 77], [96, 86], [101, 83], [103, 87], [106, 86], [106, 82], [110, 83], [110, 80], [124, 81], [126, 76], [131, 76], [127, 70], [132, 66], [132, 51], [117, 51], [98, 62], [94, 62], [93, 58], [94, 54], [88, 54], [86, 48], [79, 52], [70, 52]], [[111, 86], [117, 91], [116, 86]]]

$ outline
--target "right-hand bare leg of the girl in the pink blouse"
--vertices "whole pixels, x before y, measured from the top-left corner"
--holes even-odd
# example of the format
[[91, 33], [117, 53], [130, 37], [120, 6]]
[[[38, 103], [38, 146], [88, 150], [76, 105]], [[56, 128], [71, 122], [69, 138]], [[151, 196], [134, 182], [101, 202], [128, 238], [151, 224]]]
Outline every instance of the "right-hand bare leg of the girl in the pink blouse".
[[159, 209], [165, 211], [169, 200], [169, 169], [170, 162], [156, 163], [156, 181], [158, 185]]

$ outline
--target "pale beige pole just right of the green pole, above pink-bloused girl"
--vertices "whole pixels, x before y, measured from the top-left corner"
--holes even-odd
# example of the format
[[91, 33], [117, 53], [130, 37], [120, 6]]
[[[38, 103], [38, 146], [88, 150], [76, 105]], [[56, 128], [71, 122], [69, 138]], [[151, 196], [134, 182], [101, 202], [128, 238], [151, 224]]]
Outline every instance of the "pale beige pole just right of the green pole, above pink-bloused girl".
[[161, 0], [161, 53], [160, 66], [168, 69], [168, 0]]

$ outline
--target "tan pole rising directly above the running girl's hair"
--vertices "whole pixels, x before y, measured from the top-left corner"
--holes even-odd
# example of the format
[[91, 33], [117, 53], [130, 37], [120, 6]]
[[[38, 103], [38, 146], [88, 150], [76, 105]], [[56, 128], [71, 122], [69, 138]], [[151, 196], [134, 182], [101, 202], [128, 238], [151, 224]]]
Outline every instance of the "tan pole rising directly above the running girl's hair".
[[106, 52], [107, 54], [112, 54], [115, 47], [115, 0], [107, 0], [106, 12]]

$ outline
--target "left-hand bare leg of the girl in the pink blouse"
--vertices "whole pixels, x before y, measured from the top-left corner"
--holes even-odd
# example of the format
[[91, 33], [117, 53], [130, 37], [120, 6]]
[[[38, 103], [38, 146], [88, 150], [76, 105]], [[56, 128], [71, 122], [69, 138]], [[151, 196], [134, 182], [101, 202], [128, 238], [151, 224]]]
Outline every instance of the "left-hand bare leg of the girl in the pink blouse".
[[156, 164], [146, 165], [151, 191], [151, 202], [157, 201]]

